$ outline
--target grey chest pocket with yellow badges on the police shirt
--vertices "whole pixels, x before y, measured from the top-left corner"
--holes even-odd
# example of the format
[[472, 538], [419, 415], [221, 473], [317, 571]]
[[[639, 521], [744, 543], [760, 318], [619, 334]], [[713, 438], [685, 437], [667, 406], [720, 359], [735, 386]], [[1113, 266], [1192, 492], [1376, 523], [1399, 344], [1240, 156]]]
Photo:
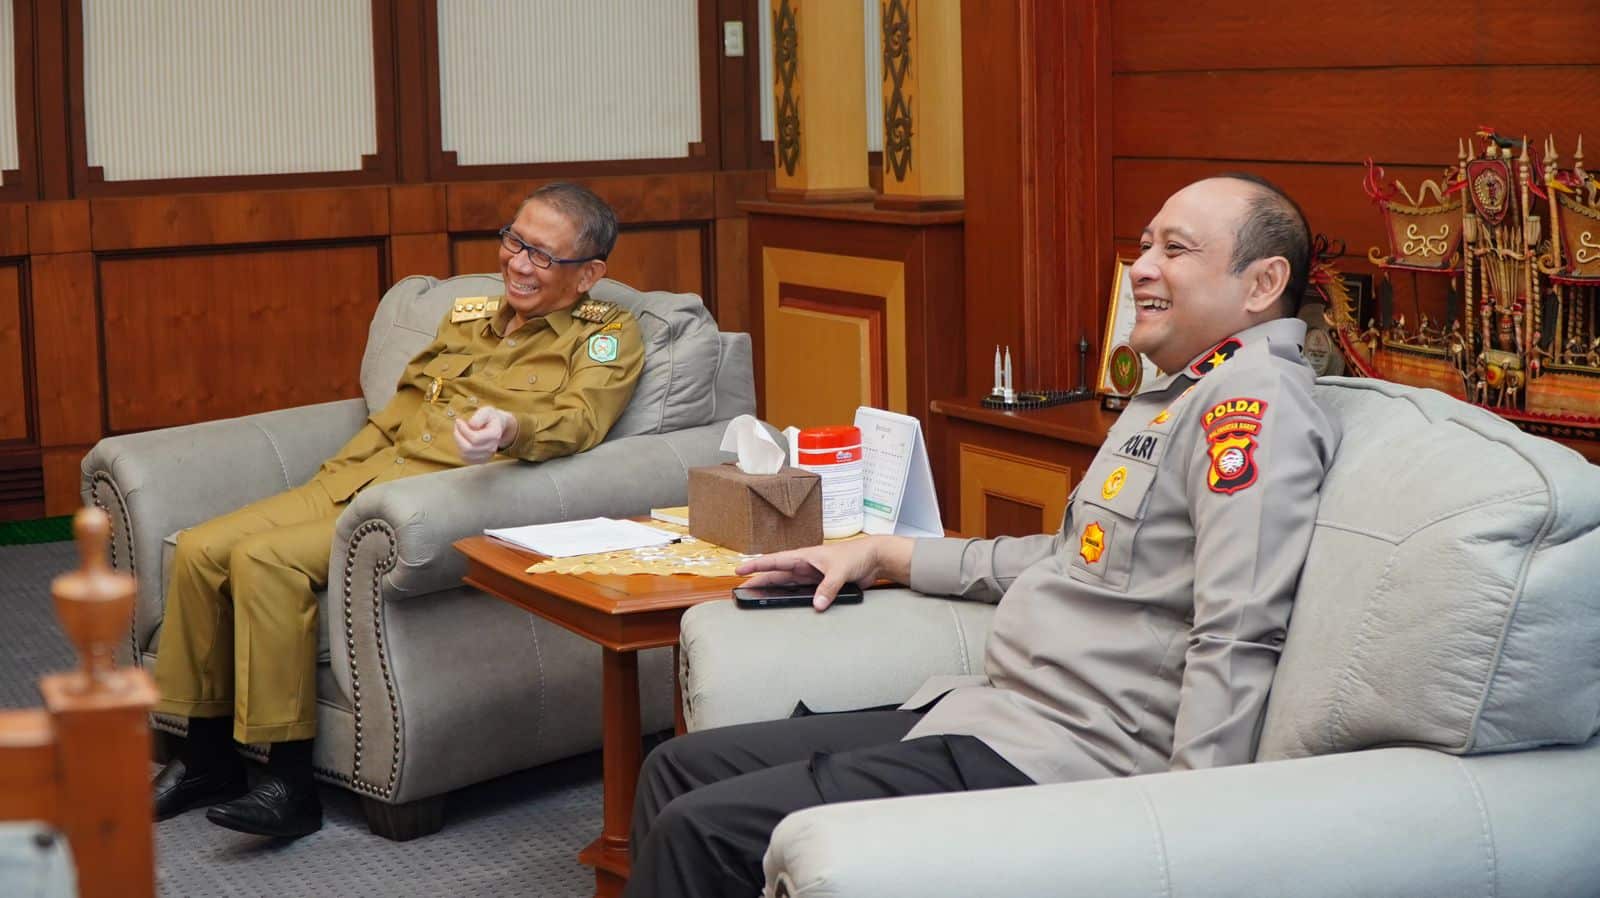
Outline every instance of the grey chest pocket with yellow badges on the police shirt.
[[1102, 453], [1094, 459], [1074, 501], [1066, 551], [1074, 579], [1126, 589], [1133, 575], [1133, 544], [1144, 522], [1157, 464]]

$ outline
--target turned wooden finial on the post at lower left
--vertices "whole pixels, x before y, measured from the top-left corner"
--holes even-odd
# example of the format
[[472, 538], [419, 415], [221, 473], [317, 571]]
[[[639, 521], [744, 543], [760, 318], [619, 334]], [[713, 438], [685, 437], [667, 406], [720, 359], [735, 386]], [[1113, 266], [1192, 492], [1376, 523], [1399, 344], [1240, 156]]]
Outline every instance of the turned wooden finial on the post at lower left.
[[50, 584], [56, 616], [78, 650], [78, 687], [83, 692], [114, 688], [114, 651], [117, 642], [128, 634], [134, 581], [114, 571], [106, 559], [110, 519], [104, 511], [80, 509], [72, 519], [72, 530], [77, 535], [80, 567]]

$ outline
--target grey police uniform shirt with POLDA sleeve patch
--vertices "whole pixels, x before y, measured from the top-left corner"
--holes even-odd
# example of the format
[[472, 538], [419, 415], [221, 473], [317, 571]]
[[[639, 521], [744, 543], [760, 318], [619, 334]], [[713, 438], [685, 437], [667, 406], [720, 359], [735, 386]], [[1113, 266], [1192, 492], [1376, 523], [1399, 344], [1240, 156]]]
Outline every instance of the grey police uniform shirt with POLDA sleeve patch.
[[998, 607], [986, 676], [925, 684], [907, 740], [978, 736], [1037, 783], [1250, 760], [1339, 443], [1304, 339], [1266, 322], [1139, 392], [1056, 535], [917, 543], [914, 589]]

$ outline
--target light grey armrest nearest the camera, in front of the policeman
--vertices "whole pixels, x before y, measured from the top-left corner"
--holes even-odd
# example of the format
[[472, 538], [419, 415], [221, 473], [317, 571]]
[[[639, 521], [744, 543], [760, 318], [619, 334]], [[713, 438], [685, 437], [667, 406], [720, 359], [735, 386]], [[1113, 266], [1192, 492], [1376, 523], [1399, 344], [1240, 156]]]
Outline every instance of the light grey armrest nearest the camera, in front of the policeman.
[[1586, 895], [1597, 802], [1600, 740], [851, 802], [778, 826], [766, 895]]

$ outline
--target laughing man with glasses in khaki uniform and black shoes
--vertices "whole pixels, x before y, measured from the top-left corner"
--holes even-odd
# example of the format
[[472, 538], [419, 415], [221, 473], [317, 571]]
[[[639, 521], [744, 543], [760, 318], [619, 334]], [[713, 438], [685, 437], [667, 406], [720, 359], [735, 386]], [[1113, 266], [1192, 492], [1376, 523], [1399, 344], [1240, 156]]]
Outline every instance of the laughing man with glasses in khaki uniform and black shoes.
[[[547, 184], [499, 237], [506, 293], [458, 299], [389, 405], [309, 483], [178, 536], [155, 709], [187, 717], [189, 740], [155, 778], [157, 820], [216, 805], [206, 818], [242, 832], [322, 828], [315, 594], [339, 512], [360, 490], [496, 455], [579, 453], [622, 415], [643, 368], [638, 327], [587, 298], [616, 214], [584, 187]], [[248, 792], [234, 741], [272, 746]]]

